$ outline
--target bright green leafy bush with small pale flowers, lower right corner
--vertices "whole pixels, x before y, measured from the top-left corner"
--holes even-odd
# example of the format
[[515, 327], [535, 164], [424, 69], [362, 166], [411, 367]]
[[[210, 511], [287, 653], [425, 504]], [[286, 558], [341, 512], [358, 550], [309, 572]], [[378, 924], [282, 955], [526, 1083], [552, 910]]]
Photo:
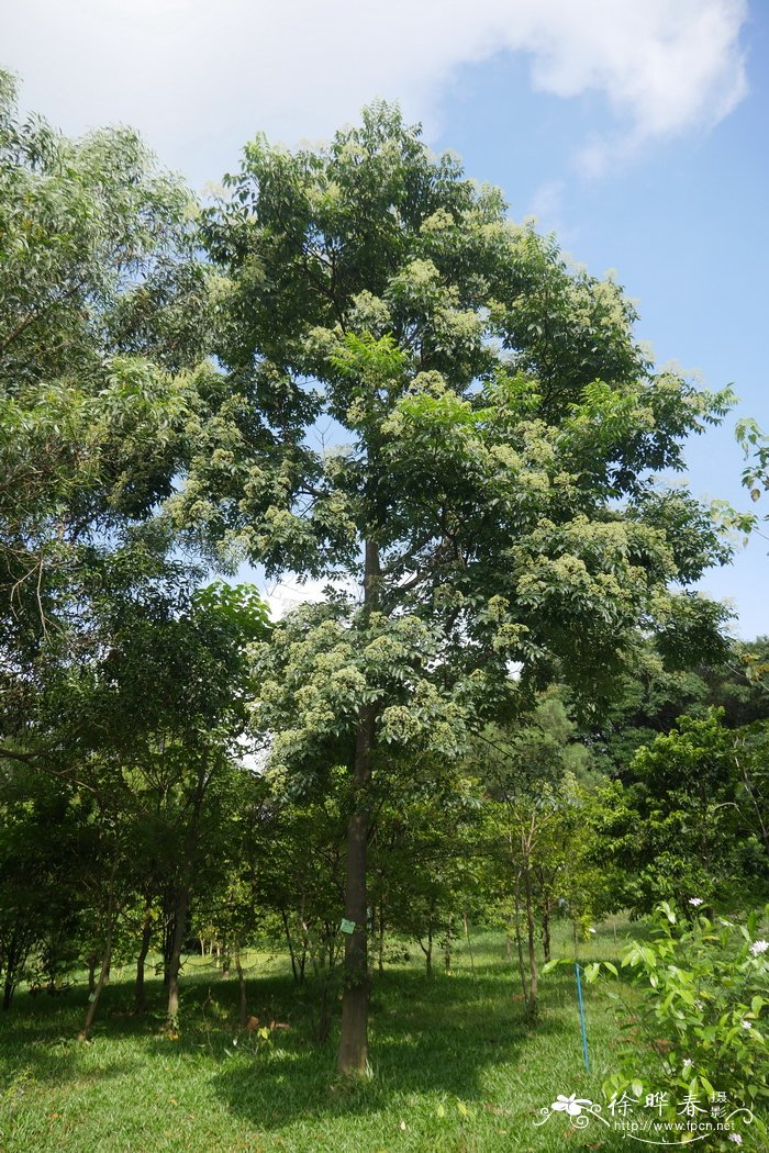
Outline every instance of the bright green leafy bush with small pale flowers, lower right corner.
[[[742, 1135], [746, 1146], [766, 1148], [769, 942], [761, 939], [755, 914], [745, 925], [710, 920], [696, 912], [700, 904], [692, 898], [691, 917], [681, 918], [663, 902], [650, 941], [626, 947], [621, 965], [633, 972], [632, 1008], [615, 995], [627, 1043], [619, 1050], [619, 1071], [603, 1090], [615, 1106], [623, 1095], [632, 1098], [680, 1126], [681, 1144], [698, 1137], [684, 1129], [691, 1121], [706, 1131], [713, 1124], [698, 1148], [734, 1150]], [[595, 980], [601, 967], [588, 966], [587, 979]], [[603, 967], [617, 973], [613, 965]]]

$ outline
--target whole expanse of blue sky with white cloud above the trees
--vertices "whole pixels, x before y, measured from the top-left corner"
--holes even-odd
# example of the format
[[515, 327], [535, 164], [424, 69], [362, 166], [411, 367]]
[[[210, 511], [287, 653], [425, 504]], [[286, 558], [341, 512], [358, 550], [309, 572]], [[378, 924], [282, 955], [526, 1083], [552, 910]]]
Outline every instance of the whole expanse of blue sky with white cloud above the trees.
[[[0, 0], [0, 15], [27, 107], [70, 133], [131, 123], [196, 187], [257, 130], [293, 144], [400, 100], [514, 218], [616, 271], [658, 363], [733, 383], [739, 408], [689, 444], [689, 482], [749, 503], [733, 427], [769, 431], [769, 5]], [[768, 550], [755, 538], [703, 581], [746, 638], [769, 634]]]

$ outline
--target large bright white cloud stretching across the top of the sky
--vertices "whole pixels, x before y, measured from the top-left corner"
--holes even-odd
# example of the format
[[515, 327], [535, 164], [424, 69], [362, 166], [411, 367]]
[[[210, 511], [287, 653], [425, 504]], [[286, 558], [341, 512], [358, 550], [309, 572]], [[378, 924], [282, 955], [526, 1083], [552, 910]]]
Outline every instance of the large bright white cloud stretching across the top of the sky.
[[0, 0], [0, 61], [67, 130], [121, 121], [195, 180], [257, 129], [327, 136], [375, 96], [435, 126], [462, 65], [531, 59], [536, 89], [605, 97], [585, 165], [713, 126], [746, 91], [746, 0]]

